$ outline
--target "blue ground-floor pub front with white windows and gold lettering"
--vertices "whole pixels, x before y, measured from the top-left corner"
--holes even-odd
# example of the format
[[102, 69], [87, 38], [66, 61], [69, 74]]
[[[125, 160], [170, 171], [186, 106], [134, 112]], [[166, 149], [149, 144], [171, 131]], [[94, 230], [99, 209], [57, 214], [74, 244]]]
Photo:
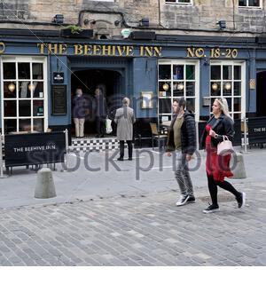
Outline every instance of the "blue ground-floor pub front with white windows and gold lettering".
[[[207, 120], [217, 97], [228, 100], [236, 121], [266, 115], [260, 106], [266, 53], [255, 37], [245, 39], [245, 45], [239, 38], [204, 41], [199, 36], [171, 36], [171, 41], [168, 36], [145, 41], [3, 36], [1, 130], [71, 133], [75, 88], [90, 99], [98, 85], [104, 86], [111, 116], [121, 99], [129, 97], [136, 136], [148, 136], [149, 122], [170, 121], [173, 99], [180, 97], [198, 123]], [[93, 134], [92, 114], [86, 123], [87, 134]]]

